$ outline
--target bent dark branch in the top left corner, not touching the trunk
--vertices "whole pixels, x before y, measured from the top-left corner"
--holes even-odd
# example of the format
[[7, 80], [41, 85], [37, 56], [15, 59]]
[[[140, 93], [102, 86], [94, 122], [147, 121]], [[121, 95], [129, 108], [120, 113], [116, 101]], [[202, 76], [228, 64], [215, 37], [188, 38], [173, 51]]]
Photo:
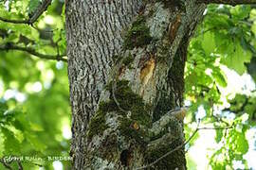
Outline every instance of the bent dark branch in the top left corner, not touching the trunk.
[[0, 21], [6, 22], [6, 23], [12, 23], [12, 24], [26, 24], [26, 25], [32, 25], [34, 22], [37, 21], [37, 19], [46, 11], [48, 6], [51, 4], [51, 0], [45, 0], [33, 13], [31, 17], [29, 17], [27, 20], [11, 20], [6, 19], [3, 17], [0, 17]]

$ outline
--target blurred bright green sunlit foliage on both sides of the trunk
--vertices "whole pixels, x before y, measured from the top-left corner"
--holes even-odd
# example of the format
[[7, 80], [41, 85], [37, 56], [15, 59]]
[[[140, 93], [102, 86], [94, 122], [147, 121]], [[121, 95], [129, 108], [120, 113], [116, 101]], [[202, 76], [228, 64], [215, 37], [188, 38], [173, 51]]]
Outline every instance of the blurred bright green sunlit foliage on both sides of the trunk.
[[[0, 17], [22, 20], [39, 4], [39, 0], [2, 0]], [[255, 139], [247, 138], [247, 131], [254, 129], [256, 122], [255, 84], [232, 91], [228, 71], [250, 75], [250, 84], [256, 81], [256, 7], [210, 5], [205, 15], [190, 43], [186, 64], [185, 104], [191, 108], [185, 120], [186, 136], [192, 135], [199, 119], [201, 127], [221, 127], [214, 130], [217, 147], [208, 155], [209, 168], [235, 169], [237, 162], [249, 168], [244, 155], [248, 142], [255, 143]], [[64, 35], [62, 0], [53, 1], [32, 26], [0, 21], [0, 158], [45, 158], [23, 162], [24, 169], [38, 169], [38, 164], [53, 169], [52, 162], [59, 161], [46, 161], [47, 156], [68, 156], [71, 120], [67, 65], [57, 57], [40, 59], [9, 50], [9, 44], [58, 56], [65, 53]], [[64, 169], [70, 168], [69, 161], [62, 163]], [[11, 166], [18, 168], [15, 162]], [[189, 156], [188, 166], [196, 169]]]

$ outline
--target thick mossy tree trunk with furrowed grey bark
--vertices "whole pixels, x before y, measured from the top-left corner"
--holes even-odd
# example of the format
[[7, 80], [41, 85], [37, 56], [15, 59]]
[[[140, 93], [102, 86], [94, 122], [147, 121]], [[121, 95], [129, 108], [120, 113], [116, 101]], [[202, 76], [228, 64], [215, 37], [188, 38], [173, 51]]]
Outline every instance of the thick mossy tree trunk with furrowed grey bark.
[[66, 1], [73, 169], [186, 169], [182, 107], [194, 1]]

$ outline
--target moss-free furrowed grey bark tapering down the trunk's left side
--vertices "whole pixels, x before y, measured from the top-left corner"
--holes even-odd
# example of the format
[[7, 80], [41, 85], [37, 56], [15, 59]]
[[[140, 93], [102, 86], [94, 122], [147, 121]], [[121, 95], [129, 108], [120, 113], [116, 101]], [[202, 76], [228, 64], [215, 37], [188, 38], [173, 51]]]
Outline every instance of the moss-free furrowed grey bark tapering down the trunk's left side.
[[74, 167], [82, 167], [86, 127], [96, 110], [122, 30], [137, 14], [137, 0], [66, 1], [68, 78], [72, 107]]

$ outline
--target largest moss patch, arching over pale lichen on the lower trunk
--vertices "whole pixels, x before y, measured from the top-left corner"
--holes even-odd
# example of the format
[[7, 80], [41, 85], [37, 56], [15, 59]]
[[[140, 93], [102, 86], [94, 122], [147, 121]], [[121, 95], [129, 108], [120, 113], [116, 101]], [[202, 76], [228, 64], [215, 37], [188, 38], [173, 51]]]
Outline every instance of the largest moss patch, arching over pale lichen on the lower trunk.
[[[121, 134], [129, 138], [134, 138], [137, 140], [137, 142], [142, 143], [141, 138], [144, 138], [146, 133], [141, 129], [135, 129], [131, 126], [134, 123], [137, 123], [138, 127], [151, 127], [151, 106], [144, 104], [143, 99], [132, 91], [132, 89], [128, 86], [129, 81], [121, 80], [116, 84], [117, 88], [115, 96], [119, 102], [119, 107], [122, 110], [127, 110], [127, 112], [119, 110], [119, 107], [113, 98], [112, 83], [113, 82], [110, 82], [106, 86], [106, 90], [111, 92], [110, 100], [107, 102], [101, 102], [99, 105], [99, 110], [91, 119], [89, 124], [88, 139], [91, 139], [95, 134], [101, 134], [108, 127], [105, 124], [105, 113], [116, 111], [123, 117], [120, 120], [119, 126]], [[130, 118], [127, 118], [128, 111], [131, 112]]]

